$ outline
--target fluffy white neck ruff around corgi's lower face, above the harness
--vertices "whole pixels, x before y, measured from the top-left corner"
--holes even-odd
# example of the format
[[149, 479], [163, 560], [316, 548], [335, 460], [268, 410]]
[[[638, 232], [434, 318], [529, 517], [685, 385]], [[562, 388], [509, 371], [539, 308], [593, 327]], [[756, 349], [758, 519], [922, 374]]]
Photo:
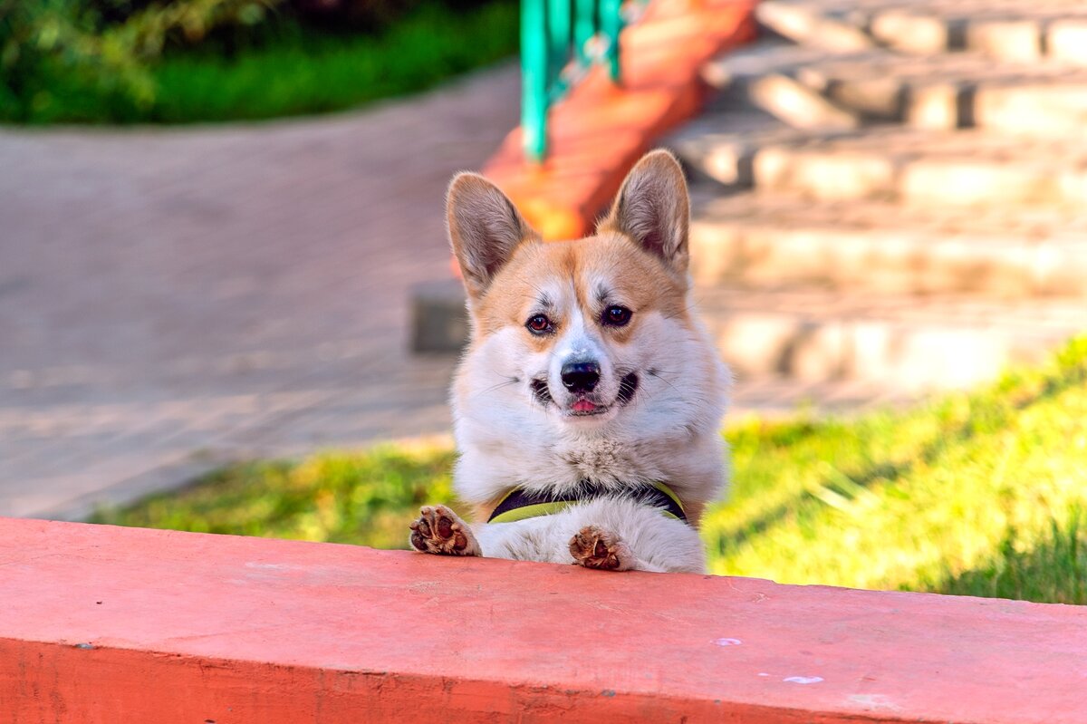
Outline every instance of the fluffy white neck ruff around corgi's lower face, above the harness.
[[714, 499], [725, 484], [717, 425], [728, 372], [695, 320], [677, 324], [666, 347], [673, 378], [644, 374], [616, 420], [588, 428], [555, 420], [523, 386], [496, 387], [493, 377], [479, 374], [489, 370], [482, 363], [488, 346], [471, 348], [452, 400], [458, 495], [486, 505], [512, 487], [561, 492], [590, 479], [617, 490], [665, 483], [684, 504]]

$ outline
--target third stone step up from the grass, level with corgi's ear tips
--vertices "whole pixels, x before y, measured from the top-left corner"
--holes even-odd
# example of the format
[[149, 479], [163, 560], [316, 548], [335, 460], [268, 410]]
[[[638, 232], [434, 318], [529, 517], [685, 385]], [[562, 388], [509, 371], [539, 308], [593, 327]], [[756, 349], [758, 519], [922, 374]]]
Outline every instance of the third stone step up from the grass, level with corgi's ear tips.
[[1087, 137], [896, 126], [810, 133], [744, 112], [701, 117], [664, 145], [727, 186], [815, 200], [1080, 208]]

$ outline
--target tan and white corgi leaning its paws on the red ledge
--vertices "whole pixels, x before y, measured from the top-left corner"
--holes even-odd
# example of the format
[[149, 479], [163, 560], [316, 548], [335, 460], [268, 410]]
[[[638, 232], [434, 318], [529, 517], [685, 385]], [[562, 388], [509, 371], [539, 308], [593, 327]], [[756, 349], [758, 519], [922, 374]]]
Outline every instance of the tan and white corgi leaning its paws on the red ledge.
[[653, 151], [596, 234], [545, 242], [505, 195], [462, 173], [447, 198], [471, 341], [453, 380], [457, 495], [412, 548], [703, 572], [704, 505], [726, 484], [732, 377], [696, 317], [683, 171]]

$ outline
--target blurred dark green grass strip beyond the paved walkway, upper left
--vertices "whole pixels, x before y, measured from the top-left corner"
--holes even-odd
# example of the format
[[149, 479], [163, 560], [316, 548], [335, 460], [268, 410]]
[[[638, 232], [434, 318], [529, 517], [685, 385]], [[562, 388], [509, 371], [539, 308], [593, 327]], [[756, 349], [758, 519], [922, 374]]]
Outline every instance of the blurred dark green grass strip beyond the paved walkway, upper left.
[[[516, 51], [517, 5], [432, 3], [376, 36], [295, 27], [278, 41], [222, 53], [167, 55], [146, 118], [237, 121], [325, 113], [429, 88]], [[511, 99], [515, 103], [516, 99]]]

